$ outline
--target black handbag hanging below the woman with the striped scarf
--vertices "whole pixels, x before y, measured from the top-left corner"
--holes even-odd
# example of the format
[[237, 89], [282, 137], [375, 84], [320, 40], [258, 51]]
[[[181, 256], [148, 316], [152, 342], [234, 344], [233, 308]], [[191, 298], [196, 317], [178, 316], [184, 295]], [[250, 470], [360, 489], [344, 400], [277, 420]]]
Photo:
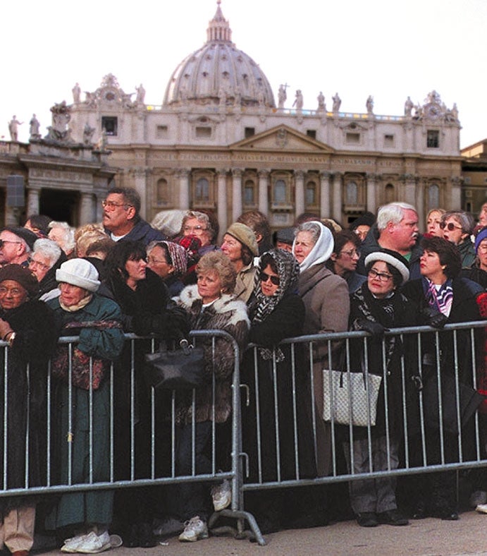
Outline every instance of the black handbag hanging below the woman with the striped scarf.
[[[474, 388], [458, 382], [460, 397], [460, 425], [463, 428], [474, 415], [484, 397]], [[457, 393], [455, 378], [448, 373], [441, 373], [441, 411], [443, 430], [452, 435], [458, 434]], [[438, 404], [438, 375], [431, 373], [423, 389], [424, 421], [427, 427], [440, 428], [440, 408]]]

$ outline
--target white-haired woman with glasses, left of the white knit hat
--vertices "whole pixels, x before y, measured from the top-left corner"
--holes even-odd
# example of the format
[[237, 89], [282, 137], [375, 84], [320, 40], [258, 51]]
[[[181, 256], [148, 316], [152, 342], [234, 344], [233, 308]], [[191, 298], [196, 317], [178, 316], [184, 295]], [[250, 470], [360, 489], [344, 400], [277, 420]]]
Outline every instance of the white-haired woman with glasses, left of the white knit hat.
[[39, 282], [37, 298], [48, 301], [59, 295], [56, 270], [66, 260], [61, 247], [51, 239], [37, 239], [29, 259], [29, 270]]

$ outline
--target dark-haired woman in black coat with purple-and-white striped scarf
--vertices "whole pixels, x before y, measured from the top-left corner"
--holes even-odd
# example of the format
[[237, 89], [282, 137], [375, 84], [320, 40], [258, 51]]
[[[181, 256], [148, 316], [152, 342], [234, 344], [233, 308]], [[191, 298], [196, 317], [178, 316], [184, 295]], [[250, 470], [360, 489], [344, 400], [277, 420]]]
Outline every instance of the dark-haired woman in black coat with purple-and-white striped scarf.
[[[448, 214], [448, 213], [447, 213]], [[448, 219], [446, 222], [451, 222]], [[424, 249], [420, 259], [421, 278], [408, 282], [403, 293], [419, 306], [419, 314], [423, 324], [443, 327], [445, 323], [469, 322], [480, 320], [479, 308], [475, 295], [469, 285], [459, 274], [462, 268], [460, 253], [451, 241], [443, 238], [423, 238], [421, 247]], [[436, 346], [435, 336], [426, 334], [421, 342], [422, 375], [426, 390], [427, 383], [434, 380], [437, 365], [444, 380], [442, 383], [443, 396], [447, 395], [446, 388], [453, 385], [455, 376], [455, 342], [452, 332], [439, 334], [440, 345]], [[457, 330], [457, 363], [460, 382], [471, 384], [472, 361], [471, 341], [469, 330]], [[478, 343], [480, 345], [480, 342]], [[440, 354], [440, 361], [436, 361], [436, 354]], [[450, 380], [448, 380], [450, 379]], [[450, 392], [452, 394], [452, 392]], [[425, 407], [426, 416], [426, 446], [428, 449], [428, 463], [441, 461], [440, 439], [438, 433], [438, 416], [428, 418], [429, 407]], [[444, 428], [444, 457], [445, 461], [457, 461], [457, 434]], [[466, 437], [467, 434], [464, 435]], [[465, 438], [464, 438], [465, 440]], [[418, 440], [418, 445], [419, 445]], [[421, 459], [419, 457], [419, 459]], [[418, 485], [416, 517], [428, 514], [441, 519], [458, 519], [455, 497], [455, 473], [443, 472], [429, 474]]]

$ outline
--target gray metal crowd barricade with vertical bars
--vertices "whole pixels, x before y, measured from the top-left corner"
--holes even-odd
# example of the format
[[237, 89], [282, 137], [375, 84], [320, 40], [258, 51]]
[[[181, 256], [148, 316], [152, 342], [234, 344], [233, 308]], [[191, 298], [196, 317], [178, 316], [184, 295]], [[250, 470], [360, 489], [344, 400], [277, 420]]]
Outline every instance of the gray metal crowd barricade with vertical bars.
[[[10, 392], [8, 392], [8, 382], [6, 377], [8, 375], [8, 349], [6, 342], [0, 342], [0, 349], [4, 350], [4, 368], [3, 368], [3, 392], [2, 402], [4, 407], [2, 408], [4, 423], [3, 423], [3, 481], [2, 488], [0, 489], [0, 497], [7, 497], [13, 495], [26, 495], [26, 494], [37, 494], [37, 495], [48, 495], [51, 493], [60, 492], [73, 492], [73, 491], [87, 491], [87, 490], [116, 490], [120, 488], [135, 488], [137, 486], [148, 486], [148, 485], [174, 485], [176, 483], [183, 482], [205, 482], [205, 483], [218, 483], [223, 481], [223, 479], [228, 479], [231, 483], [232, 489], [232, 502], [228, 509], [224, 509], [221, 512], [216, 512], [209, 519], [210, 528], [216, 524], [219, 516], [229, 516], [237, 520], [236, 533], [237, 536], [246, 536], [245, 533], [245, 521], [248, 522], [252, 533], [259, 544], [264, 544], [264, 538], [261, 536], [259, 531], [259, 526], [254, 519], [252, 514], [245, 512], [245, 493], [252, 490], [266, 490], [275, 488], [290, 488], [290, 487], [302, 487], [306, 485], [318, 485], [321, 483], [333, 483], [333, 482], [343, 482], [343, 481], [355, 481], [357, 479], [364, 478], [380, 478], [383, 476], [400, 476], [400, 475], [412, 475], [417, 473], [431, 473], [434, 471], [445, 471], [445, 470], [460, 470], [467, 468], [481, 468], [487, 466], [487, 459], [485, 455], [485, 439], [481, 437], [481, 427], [479, 422], [479, 414], [475, 413], [471, 422], [469, 423], [469, 428], [462, 427], [462, 415], [460, 414], [460, 368], [463, 365], [463, 361], [460, 361], [460, 346], [458, 346], [458, 334], [460, 331], [467, 330], [469, 337], [469, 342], [471, 344], [470, 348], [470, 361], [468, 369], [468, 381], [471, 382], [473, 387], [476, 387], [476, 371], [481, 365], [484, 364], [483, 359], [483, 349], [485, 343], [485, 332], [486, 322], [475, 322], [475, 323], [465, 323], [462, 325], [447, 325], [444, 330], [434, 330], [430, 327], [411, 327], [394, 329], [386, 332], [385, 339], [381, 340], [381, 343], [374, 349], [381, 349], [385, 353], [386, 344], [385, 340], [387, 337], [394, 335], [395, 337], [404, 340], [406, 337], [412, 335], [414, 345], [416, 349], [414, 353], [402, 353], [400, 358], [400, 382], [402, 385], [402, 429], [404, 433], [400, 442], [402, 444], [402, 452], [404, 457], [400, 462], [400, 466], [397, 469], [391, 469], [388, 466], [386, 470], [376, 470], [372, 464], [371, 452], [372, 443], [371, 435], [373, 432], [373, 427], [369, 425], [366, 427], [367, 432], [367, 445], [369, 450], [369, 471], [367, 473], [353, 473], [347, 469], [340, 468], [339, 465], [339, 450], [343, 451], [343, 445], [340, 440], [339, 427], [331, 420], [326, 427], [329, 432], [329, 471], [326, 475], [320, 475], [316, 473], [315, 476], [304, 476], [305, 473], [302, 472], [303, 462], [300, 459], [300, 404], [304, 403], [307, 409], [307, 416], [309, 418], [309, 423], [312, 432], [312, 450], [313, 453], [317, 453], [319, 448], [319, 435], [317, 434], [318, 426], [321, 425], [322, 420], [322, 407], [317, 406], [314, 400], [314, 389], [316, 388], [316, 377], [313, 373], [314, 366], [316, 368], [336, 368], [338, 365], [338, 358], [335, 357], [337, 350], [343, 350], [345, 357], [345, 366], [343, 370], [345, 373], [350, 373], [356, 369], [350, 366], [350, 349], [352, 346], [357, 346], [357, 342], [363, 342], [364, 351], [366, 353], [367, 349], [370, 349], [368, 342], [368, 334], [364, 332], [345, 332], [340, 334], [314, 334], [310, 336], [302, 336], [298, 338], [286, 339], [281, 343], [281, 346], [290, 346], [290, 387], [288, 395], [290, 396], [290, 405], [286, 406], [291, 408], [292, 413], [292, 425], [291, 430], [287, 433], [292, 436], [293, 454], [292, 454], [292, 466], [294, 472], [292, 476], [285, 476], [282, 472], [283, 464], [289, 464], [289, 461], [281, 461], [281, 448], [283, 448], [283, 442], [285, 442], [282, 437], [282, 431], [280, 428], [281, 421], [284, 418], [289, 418], [289, 415], [285, 414], [283, 407], [279, 404], [278, 395], [278, 385], [282, 377], [279, 375], [278, 364], [276, 360], [276, 350], [273, 351], [273, 359], [271, 360], [271, 395], [267, 397], [267, 393], [264, 394], [265, 399], [261, 399], [262, 393], [259, 392], [259, 372], [257, 369], [258, 362], [258, 346], [249, 346], [249, 351], [252, 356], [247, 357], [249, 353], [246, 353], [246, 365], [250, 365], [250, 369], [246, 369], [246, 373], [254, 375], [254, 387], [249, 389], [242, 384], [240, 380], [240, 359], [241, 355], [239, 353], [238, 345], [235, 340], [230, 337], [229, 334], [221, 332], [218, 330], [198, 330], [192, 331], [192, 337], [195, 343], [202, 342], [204, 339], [211, 338], [211, 345], [213, 351], [216, 349], [215, 339], [217, 337], [223, 337], [233, 346], [233, 353], [235, 358], [235, 367], [232, 378], [232, 413], [231, 419], [231, 442], [228, 447], [230, 454], [230, 465], [225, 471], [220, 471], [219, 463], [220, 459], [218, 456], [218, 426], [213, 421], [211, 428], [211, 472], [209, 473], [199, 473], [195, 462], [195, 427], [196, 418], [195, 411], [192, 411], [192, 461], [191, 461], [191, 472], [182, 475], [178, 473], [177, 466], [177, 440], [178, 440], [178, 425], [177, 425], [177, 409], [178, 409], [178, 399], [181, 395], [179, 392], [168, 392], [163, 397], [161, 397], [159, 392], [155, 392], [154, 388], [148, 389], [146, 394], [141, 394], [141, 373], [140, 368], [140, 350], [142, 351], [155, 351], [157, 346], [159, 346], [159, 339], [147, 339], [136, 337], [134, 334], [125, 334], [125, 356], [123, 361], [128, 363], [128, 368], [121, 368], [120, 363], [111, 363], [109, 367], [108, 377], [108, 388], [109, 388], [109, 473], [103, 480], [95, 479], [97, 474], [97, 469], [94, 469], [94, 425], [97, 421], [97, 414], [94, 411], [94, 396], [97, 395], [92, 389], [87, 392], [88, 397], [88, 437], [89, 437], [89, 458], [88, 458], [88, 469], [87, 478], [84, 481], [75, 481], [73, 478], [73, 447], [70, 442], [69, 437], [66, 439], [68, 442], [68, 476], [65, 483], [61, 483], [56, 476], [55, 461], [53, 460], [54, 454], [54, 442], [56, 438], [54, 433], [56, 431], [56, 419], [58, 417], [58, 408], [54, 406], [54, 401], [56, 399], [56, 389], [63, 387], [66, 388], [68, 399], [70, 400], [68, 405], [68, 429], [73, 430], [73, 419], [75, 418], [75, 413], [73, 413], [73, 391], [75, 388], [68, 385], [59, 385], [58, 381], [51, 377], [50, 368], [47, 372], [47, 399], [46, 399], [46, 423], [47, 423], [47, 433], [45, 437], [45, 460], [46, 460], [46, 473], [42, 478], [40, 485], [31, 485], [29, 478], [29, 461], [31, 457], [30, 452], [30, 436], [29, 436], [29, 415], [27, 414], [27, 428], [26, 428], [26, 442], [25, 442], [25, 481], [23, 485], [16, 485], [15, 488], [8, 488], [8, 399]], [[412, 407], [412, 402], [407, 396], [408, 390], [412, 387], [410, 384], [410, 379], [407, 374], [407, 363], [411, 363], [410, 358], [414, 356], [416, 358], [415, 364], [417, 365], [418, 374], [424, 372], [424, 361], [421, 359], [421, 349], [424, 342], [424, 335], [431, 334], [436, 339], [436, 345], [439, 345], [438, 339], [441, 334], [445, 332], [450, 332], [452, 335], [453, 342], [453, 377], [455, 380], [455, 399], [457, 401], [457, 425], [459, 428], [458, 435], [456, 437], [456, 447], [455, 447], [455, 458], [447, 457], [447, 450], [445, 449], [445, 438], [447, 437], [443, 421], [442, 412], [446, 409], [443, 408], [443, 399], [438, 395], [438, 411], [439, 411], [439, 422], [438, 422], [438, 442], [440, 445], [440, 461], [431, 462], [429, 461], [429, 447], [428, 447], [428, 431], [426, 430], [425, 424], [425, 406], [422, 392], [419, 392], [417, 397], [417, 406]], [[78, 342], [78, 337], [68, 337], [60, 339], [61, 344], [68, 344], [69, 346], [69, 376], [71, 376], [72, 370], [72, 356], [73, 347]], [[463, 346], [462, 346], [463, 347]], [[436, 355], [440, 356], [438, 347]], [[321, 351], [320, 351], [321, 350]], [[323, 357], [323, 350], [326, 355]], [[298, 353], [300, 356], [298, 357]], [[318, 355], [321, 353], [321, 355]], [[333, 354], [333, 356], [332, 356]], [[481, 354], [481, 355], [479, 355]], [[317, 357], [321, 358], [318, 360]], [[481, 361], [479, 361], [479, 356]], [[408, 359], [409, 358], [409, 359]], [[249, 363], [250, 361], [250, 363]], [[319, 363], [318, 363], [319, 361]], [[366, 372], [369, 372], [368, 365], [366, 363]], [[30, 370], [27, 366], [27, 381], [30, 379]], [[377, 370], [376, 370], [377, 372]], [[442, 383], [442, 369], [440, 368], [440, 363], [436, 363], [436, 368], [434, 369], [436, 373], [436, 378], [438, 380], [438, 393], [441, 388]], [[90, 360], [90, 373], [92, 373], [92, 361]], [[124, 374], [125, 373], [125, 374]], [[392, 431], [388, 426], [388, 371], [385, 368], [380, 370], [384, 382], [384, 399], [385, 404], [384, 411], [386, 414], [386, 445], [387, 453], [390, 455], [390, 446], [392, 439]], [[125, 418], [125, 423], [127, 425], [126, 430], [120, 430], [117, 428], [117, 418], [120, 416], [120, 409], [116, 404], [118, 385], [121, 378], [125, 376], [128, 377], [128, 389], [129, 389], [129, 406], [128, 412], [122, 416]], [[304, 382], [301, 380], [304, 377]], [[298, 380], [299, 379], [299, 380]], [[304, 388], [300, 387], [300, 380], [306, 386]], [[212, 392], [215, 395], [215, 377], [212, 379]], [[301, 389], [300, 389], [301, 388]], [[240, 400], [240, 394], [242, 395], [242, 403]], [[304, 395], [305, 394], [305, 395]], [[196, 392], [192, 391], [188, 394], [191, 397], [191, 403], [193, 409], [195, 408]], [[142, 396], [142, 397], [141, 397]], [[351, 396], [351, 393], [350, 393]], [[247, 411], [247, 402], [249, 399], [256, 404], [256, 414], [252, 416], [256, 423], [256, 429], [251, 431], [251, 440], [254, 438], [256, 442], [254, 459], [249, 459], [249, 454], [245, 454], [242, 448], [242, 441], [248, 442], [249, 430], [245, 428], [242, 430], [242, 414], [241, 411]], [[147, 452], [140, 453], [137, 440], [140, 440], [140, 403], [148, 404], [149, 411], [146, 411], [147, 421], [144, 423], [144, 430], [149, 435], [146, 440], [145, 446], [147, 447]], [[289, 400], [288, 400], [289, 401]], [[380, 402], [379, 402], [380, 403]], [[262, 404], [266, 404], [266, 412], [261, 412]], [[269, 409], [271, 413], [269, 413]], [[213, 403], [213, 412], [215, 411], [215, 404]], [[415, 442], [419, 448], [419, 461], [418, 459], [413, 459], [410, 453], [412, 445], [412, 433], [409, 431], [409, 416], [412, 411], [417, 411], [419, 414], [419, 432], [416, 434]], [[269, 417], [271, 414], [271, 417]], [[271, 423], [269, 423], [271, 419]], [[283, 421], [282, 421], [283, 422]], [[266, 450], [269, 446], [261, 441], [261, 432], [264, 428], [272, 425], [273, 427], [273, 442], [275, 443], [275, 461], [272, 462], [273, 465], [273, 477], [271, 479], [266, 478], [264, 471], [264, 459]], [[347, 428], [348, 435], [350, 439], [353, 440], [354, 430], [352, 425], [341, 425]], [[125, 453], [126, 460], [121, 461], [123, 454], [117, 453], [117, 447], [121, 442], [121, 435], [124, 435], [125, 439], [128, 440], [128, 453]], [[253, 440], [252, 440], [253, 441]], [[351, 446], [352, 442], [350, 442]], [[465, 447], [468, 446], [469, 449], [466, 450]], [[168, 459], [162, 458], [161, 462], [161, 447], [164, 448], [164, 454], [168, 454]], [[168, 447], [167, 451], [166, 448]], [[353, 469], [353, 458], [354, 454], [352, 448], [350, 447], [350, 468]], [[149, 462], [147, 466], [147, 473], [141, 476], [140, 469], [137, 468], [137, 461], [140, 458]], [[413, 461], [414, 460], [414, 461]], [[452, 460], [452, 461], [450, 461]], [[125, 474], [118, 471], [119, 464], [125, 464]], [[254, 467], [257, 469], [257, 478], [248, 478], [249, 467]], [[128, 470], [128, 471], [127, 471]]]

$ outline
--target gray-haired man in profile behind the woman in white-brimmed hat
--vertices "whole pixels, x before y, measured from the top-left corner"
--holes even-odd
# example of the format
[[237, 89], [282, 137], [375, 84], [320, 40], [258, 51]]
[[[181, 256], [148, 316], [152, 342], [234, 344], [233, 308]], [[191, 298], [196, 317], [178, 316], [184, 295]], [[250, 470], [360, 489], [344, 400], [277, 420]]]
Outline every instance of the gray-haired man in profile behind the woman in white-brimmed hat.
[[407, 203], [383, 205], [377, 212], [376, 224], [372, 226], [360, 248], [361, 256], [357, 272], [366, 274], [364, 260], [369, 253], [379, 249], [390, 249], [409, 262], [409, 279], [419, 278], [421, 248], [418, 238], [418, 214], [413, 205]]

